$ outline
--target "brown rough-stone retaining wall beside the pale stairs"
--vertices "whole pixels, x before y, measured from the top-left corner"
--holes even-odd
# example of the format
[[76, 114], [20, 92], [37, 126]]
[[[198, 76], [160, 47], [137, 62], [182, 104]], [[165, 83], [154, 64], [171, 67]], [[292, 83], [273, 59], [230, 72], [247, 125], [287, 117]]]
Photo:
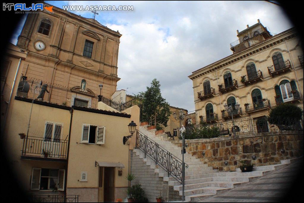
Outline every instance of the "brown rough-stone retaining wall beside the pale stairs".
[[[181, 141], [172, 141], [181, 147]], [[254, 166], [279, 164], [303, 155], [302, 131], [279, 131], [223, 138], [186, 140], [186, 152], [219, 171], [236, 171], [240, 160]], [[285, 153], [281, 150], [284, 149]], [[203, 155], [205, 152], [205, 155]], [[257, 158], [253, 160], [252, 156]], [[228, 161], [228, 165], [225, 165]]]

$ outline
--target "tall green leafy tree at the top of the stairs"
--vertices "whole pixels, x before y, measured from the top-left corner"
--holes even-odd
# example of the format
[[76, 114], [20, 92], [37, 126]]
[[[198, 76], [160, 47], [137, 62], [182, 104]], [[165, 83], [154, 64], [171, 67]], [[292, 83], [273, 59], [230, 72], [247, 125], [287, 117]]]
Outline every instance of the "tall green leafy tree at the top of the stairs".
[[157, 79], [153, 79], [151, 86], [147, 86], [147, 91], [140, 92], [139, 95], [143, 96], [142, 98], [142, 120], [148, 121], [150, 125], [159, 125], [163, 124], [167, 126], [167, 122], [170, 117], [170, 105], [166, 102], [161, 96], [161, 85]]

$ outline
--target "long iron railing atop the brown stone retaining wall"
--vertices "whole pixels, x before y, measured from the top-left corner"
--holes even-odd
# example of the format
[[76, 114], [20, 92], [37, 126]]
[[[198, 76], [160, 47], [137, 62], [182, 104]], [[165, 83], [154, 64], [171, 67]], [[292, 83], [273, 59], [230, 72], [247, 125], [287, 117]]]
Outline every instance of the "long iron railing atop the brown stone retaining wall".
[[[233, 128], [233, 126], [235, 127]], [[303, 119], [290, 117], [246, 118], [213, 124], [193, 125], [182, 129], [185, 139], [215, 138], [275, 131], [303, 131]]]

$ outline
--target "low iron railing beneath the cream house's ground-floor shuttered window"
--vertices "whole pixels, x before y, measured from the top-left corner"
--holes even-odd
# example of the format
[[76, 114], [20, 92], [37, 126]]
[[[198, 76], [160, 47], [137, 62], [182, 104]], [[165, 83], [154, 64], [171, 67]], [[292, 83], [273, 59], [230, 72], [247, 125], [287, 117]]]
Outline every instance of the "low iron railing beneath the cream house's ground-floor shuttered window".
[[78, 202], [79, 195], [37, 194], [30, 196], [30, 202]]

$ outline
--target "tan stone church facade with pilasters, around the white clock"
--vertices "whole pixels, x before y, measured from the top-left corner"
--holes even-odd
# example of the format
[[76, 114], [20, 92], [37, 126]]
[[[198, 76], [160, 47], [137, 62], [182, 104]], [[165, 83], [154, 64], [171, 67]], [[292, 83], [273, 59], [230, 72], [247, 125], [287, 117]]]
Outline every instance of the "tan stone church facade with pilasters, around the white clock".
[[[17, 46], [29, 51], [22, 73], [28, 77], [69, 88], [87, 82], [86, 90], [99, 94], [98, 84], [103, 84], [102, 95], [108, 98], [116, 91], [117, 60], [121, 34], [102, 26], [93, 19], [53, 7], [53, 14], [42, 11], [29, 14]], [[38, 33], [41, 20], [52, 23], [49, 35]], [[35, 49], [36, 41], [46, 48]], [[94, 42], [92, 57], [83, 56], [85, 40]]]

